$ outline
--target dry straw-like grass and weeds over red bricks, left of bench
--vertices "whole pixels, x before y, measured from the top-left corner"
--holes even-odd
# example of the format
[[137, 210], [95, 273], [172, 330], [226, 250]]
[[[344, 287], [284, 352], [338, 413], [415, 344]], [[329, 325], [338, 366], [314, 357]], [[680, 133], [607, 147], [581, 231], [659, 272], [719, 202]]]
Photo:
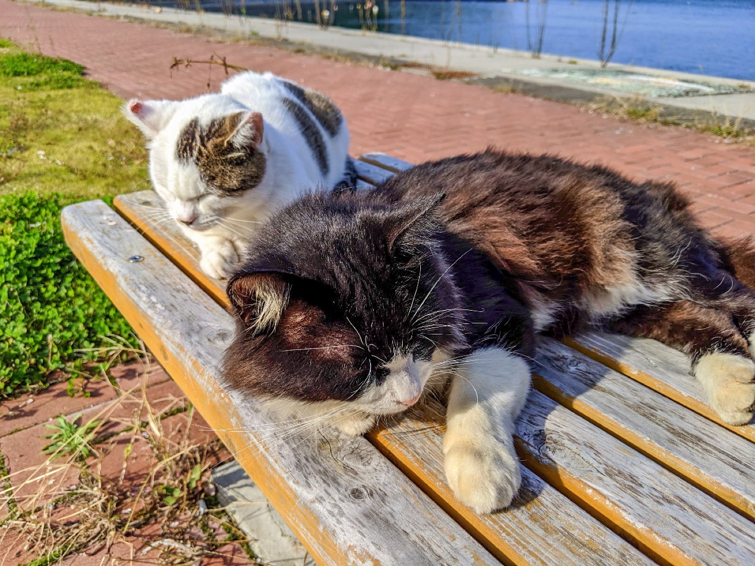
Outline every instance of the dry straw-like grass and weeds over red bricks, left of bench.
[[116, 550], [124, 562], [189, 564], [230, 558], [218, 552], [229, 541], [254, 560], [208, 479], [228, 453], [217, 438], [192, 437], [194, 418], [183, 398], [149, 401], [144, 380], [86, 422], [48, 425], [66, 434], [41, 464], [0, 470], [0, 564], [42, 566], [74, 553], [107, 559]]

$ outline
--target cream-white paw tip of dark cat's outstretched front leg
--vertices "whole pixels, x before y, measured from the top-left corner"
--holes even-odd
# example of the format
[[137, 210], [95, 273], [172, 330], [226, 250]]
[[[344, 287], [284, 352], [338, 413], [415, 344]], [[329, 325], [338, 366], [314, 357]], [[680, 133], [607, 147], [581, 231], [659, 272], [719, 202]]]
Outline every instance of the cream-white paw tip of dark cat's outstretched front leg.
[[478, 513], [510, 505], [522, 484], [513, 443], [483, 437], [448, 444], [444, 452], [445, 476], [461, 503]]

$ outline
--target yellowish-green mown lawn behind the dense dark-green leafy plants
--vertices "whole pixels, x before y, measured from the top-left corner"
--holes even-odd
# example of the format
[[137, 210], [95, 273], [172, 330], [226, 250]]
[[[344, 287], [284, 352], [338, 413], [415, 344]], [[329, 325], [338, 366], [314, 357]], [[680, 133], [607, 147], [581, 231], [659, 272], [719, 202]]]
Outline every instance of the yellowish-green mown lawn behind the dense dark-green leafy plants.
[[82, 70], [0, 48], [0, 194], [93, 199], [146, 188], [140, 133], [122, 116], [121, 99]]

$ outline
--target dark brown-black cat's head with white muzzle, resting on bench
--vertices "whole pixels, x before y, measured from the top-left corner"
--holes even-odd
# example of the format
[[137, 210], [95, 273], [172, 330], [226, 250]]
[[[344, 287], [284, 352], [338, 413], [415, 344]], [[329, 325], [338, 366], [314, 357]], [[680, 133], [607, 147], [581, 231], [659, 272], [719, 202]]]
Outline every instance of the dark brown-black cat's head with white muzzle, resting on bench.
[[356, 213], [349, 194], [313, 193], [261, 227], [227, 288], [230, 385], [368, 414], [414, 404], [433, 356], [464, 344], [445, 308], [455, 284], [433, 246], [439, 198]]

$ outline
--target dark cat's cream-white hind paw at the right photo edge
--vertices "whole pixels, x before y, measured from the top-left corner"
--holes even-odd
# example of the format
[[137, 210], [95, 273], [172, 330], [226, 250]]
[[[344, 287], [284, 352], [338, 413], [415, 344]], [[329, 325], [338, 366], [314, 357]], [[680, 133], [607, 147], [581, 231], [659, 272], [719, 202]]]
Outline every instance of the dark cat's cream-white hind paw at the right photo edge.
[[729, 425], [746, 425], [755, 409], [755, 363], [748, 357], [723, 352], [704, 354], [695, 376], [705, 389], [710, 407]]

